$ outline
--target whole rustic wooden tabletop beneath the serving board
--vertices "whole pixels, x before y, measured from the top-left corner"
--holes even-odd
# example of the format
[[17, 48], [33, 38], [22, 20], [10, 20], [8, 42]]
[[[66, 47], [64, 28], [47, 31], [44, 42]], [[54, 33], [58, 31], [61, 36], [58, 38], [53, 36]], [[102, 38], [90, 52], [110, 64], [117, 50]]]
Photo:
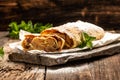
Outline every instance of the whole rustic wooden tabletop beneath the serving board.
[[73, 61], [58, 66], [41, 66], [15, 63], [8, 59], [13, 40], [8, 32], [0, 32], [0, 47], [4, 47], [4, 58], [0, 58], [0, 80], [120, 80], [120, 54]]

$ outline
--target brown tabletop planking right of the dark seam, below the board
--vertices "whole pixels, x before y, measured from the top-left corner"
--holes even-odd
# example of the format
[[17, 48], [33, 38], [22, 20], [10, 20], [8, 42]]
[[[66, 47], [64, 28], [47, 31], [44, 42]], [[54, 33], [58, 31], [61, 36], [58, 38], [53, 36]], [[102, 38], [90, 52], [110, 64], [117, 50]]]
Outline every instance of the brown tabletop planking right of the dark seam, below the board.
[[46, 80], [120, 80], [120, 54], [47, 67]]

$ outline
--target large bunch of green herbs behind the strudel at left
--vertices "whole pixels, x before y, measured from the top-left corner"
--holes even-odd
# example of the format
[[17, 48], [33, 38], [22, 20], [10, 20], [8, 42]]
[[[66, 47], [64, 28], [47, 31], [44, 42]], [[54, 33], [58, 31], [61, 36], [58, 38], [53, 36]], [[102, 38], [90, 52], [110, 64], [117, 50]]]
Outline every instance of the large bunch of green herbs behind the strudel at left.
[[9, 24], [9, 33], [11, 38], [19, 38], [19, 31], [20, 29], [31, 32], [31, 33], [40, 33], [44, 29], [52, 27], [52, 24], [43, 25], [42, 23], [35, 23], [33, 24], [32, 21], [21, 21], [20, 24], [17, 22], [11, 22]]

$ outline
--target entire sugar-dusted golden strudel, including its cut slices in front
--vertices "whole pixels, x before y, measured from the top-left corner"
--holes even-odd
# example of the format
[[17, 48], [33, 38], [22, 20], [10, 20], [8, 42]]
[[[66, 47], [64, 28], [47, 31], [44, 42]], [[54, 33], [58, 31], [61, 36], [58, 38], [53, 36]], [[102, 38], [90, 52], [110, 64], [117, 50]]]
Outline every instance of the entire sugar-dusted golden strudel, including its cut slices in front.
[[82, 43], [83, 32], [96, 37], [96, 40], [101, 39], [105, 34], [101, 27], [77, 21], [46, 29], [40, 33], [40, 36], [26, 36], [22, 46], [28, 50], [38, 49], [47, 52], [75, 48]]

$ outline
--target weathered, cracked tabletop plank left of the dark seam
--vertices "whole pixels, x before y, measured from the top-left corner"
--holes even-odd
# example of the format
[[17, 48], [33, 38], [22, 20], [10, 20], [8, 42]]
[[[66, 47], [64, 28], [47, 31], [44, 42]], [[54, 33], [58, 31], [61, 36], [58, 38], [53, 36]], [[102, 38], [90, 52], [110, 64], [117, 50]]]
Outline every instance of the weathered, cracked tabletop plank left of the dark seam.
[[[0, 57], [0, 80], [44, 80], [45, 67], [40, 65], [31, 65], [26, 63], [14, 63], [8, 58], [11, 53], [9, 43], [18, 40], [12, 40], [4, 37], [5, 32], [0, 32], [0, 46], [4, 47], [5, 55]], [[7, 39], [6, 39], [7, 38]]]

